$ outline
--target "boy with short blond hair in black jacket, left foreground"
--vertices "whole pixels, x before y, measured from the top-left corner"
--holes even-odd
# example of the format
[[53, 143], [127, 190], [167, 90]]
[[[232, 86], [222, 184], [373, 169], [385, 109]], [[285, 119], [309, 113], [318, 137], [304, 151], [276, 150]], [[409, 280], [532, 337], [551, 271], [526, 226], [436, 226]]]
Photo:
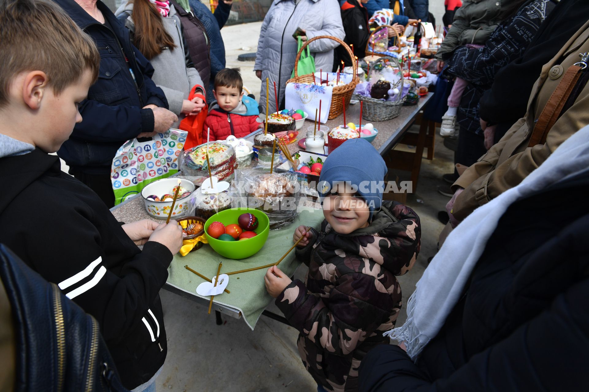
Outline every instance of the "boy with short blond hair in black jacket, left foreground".
[[0, 241], [99, 321], [126, 387], [154, 387], [167, 352], [158, 292], [181, 228], [121, 225], [48, 155], [82, 121], [100, 63], [90, 36], [47, 0], [0, 2], [0, 26]]

